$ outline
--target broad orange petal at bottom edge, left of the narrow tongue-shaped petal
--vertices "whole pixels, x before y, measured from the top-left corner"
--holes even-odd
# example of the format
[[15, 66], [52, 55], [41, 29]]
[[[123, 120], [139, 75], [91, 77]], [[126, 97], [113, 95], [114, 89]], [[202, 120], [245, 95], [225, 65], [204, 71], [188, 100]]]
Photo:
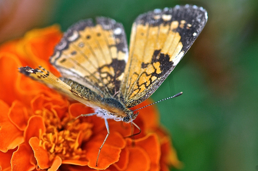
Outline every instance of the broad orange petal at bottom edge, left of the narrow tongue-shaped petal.
[[13, 152], [11, 158], [12, 170], [30, 171], [36, 168], [33, 163], [34, 154], [31, 147], [25, 143], [19, 145], [17, 151]]

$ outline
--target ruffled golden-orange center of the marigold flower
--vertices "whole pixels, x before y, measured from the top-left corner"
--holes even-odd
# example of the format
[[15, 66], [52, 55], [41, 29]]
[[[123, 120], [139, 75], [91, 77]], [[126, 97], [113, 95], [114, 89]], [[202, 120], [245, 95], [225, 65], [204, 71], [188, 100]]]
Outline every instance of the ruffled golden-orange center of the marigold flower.
[[[48, 114], [47, 114], [48, 113]], [[82, 140], [87, 141], [92, 135], [92, 124], [60, 121], [53, 112], [43, 112], [46, 132], [40, 134], [39, 146], [49, 152], [50, 161], [59, 156], [62, 160], [85, 158], [86, 151], [81, 148]], [[65, 119], [64, 119], [65, 120]]]

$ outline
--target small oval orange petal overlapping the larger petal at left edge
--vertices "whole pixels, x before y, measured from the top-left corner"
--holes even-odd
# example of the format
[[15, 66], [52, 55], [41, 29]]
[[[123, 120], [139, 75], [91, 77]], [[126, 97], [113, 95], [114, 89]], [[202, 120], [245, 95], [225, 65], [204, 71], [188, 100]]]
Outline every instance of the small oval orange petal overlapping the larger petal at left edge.
[[10, 108], [9, 117], [11, 122], [21, 131], [24, 131], [29, 119], [26, 107], [15, 100]]

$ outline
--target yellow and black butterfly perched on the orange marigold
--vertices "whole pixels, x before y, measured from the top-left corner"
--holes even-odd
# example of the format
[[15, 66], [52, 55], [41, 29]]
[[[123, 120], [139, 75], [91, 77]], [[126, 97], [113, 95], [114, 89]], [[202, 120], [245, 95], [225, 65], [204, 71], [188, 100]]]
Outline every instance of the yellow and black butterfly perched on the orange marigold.
[[[207, 12], [195, 5], [155, 9], [136, 18], [130, 46], [123, 25], [106, 17], [72, 25], [50, 57], [62, 77], [39, 66], [20, 67], [22, 74], [94, 108], [104, 119], [130, 122], [139, 114], [130, 108], [146, 100], [182, 59], [207, 22]], [[136, 127], [137, 125], [134, 124]]]

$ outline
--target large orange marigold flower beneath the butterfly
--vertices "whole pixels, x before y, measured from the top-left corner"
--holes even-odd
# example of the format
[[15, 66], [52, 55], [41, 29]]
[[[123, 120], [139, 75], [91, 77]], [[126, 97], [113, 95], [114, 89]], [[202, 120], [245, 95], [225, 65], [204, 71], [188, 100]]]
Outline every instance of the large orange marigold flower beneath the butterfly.
[[[181, 163], [170, 138], [159, 125], [154, 106], [140, 110], [134, 120], [142, 129], [134, 140], [131, 125], [109, 120], [110, 135], [96, 157], [107, 130], [104, 120], [83, 117], [93, 110], [18, 73], [20, 66], [48, 62], [62, 36], [57, 26], [29, 31], [0, 47], [0, 170], [168, 170]], [[150, 104], [146, 100], [134, 109]], [[134, 130], [135, 133], [138, 130]]]

